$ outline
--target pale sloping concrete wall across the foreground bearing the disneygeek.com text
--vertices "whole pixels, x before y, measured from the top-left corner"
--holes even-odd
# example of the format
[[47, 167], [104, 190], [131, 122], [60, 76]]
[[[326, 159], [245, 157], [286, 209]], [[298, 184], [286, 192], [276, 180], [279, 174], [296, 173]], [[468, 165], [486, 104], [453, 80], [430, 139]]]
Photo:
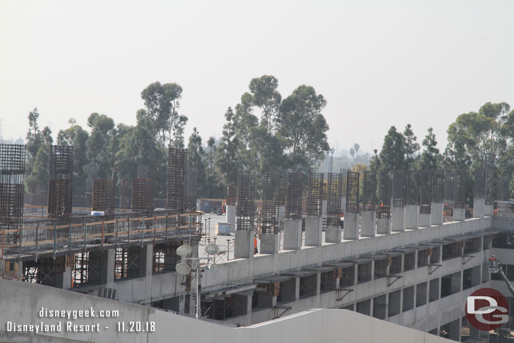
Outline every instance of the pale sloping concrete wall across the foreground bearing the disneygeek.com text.
[[[119, 311], [116, 318], [50, 318], [40, 317], [42, 308], [48, 310], [87, 311], [95, 315], [101, 310]], [[7, 321], [16, 324], [57, 324], [61, 332], [7, 332]], [[66, 332], [66, 322], [74, 325], [99, 323], [100, 332]], [[118, 322], [155, 322], [155, 332], [118, 332]], [[105, 329], [108, 327], [108, 329]], [[384, 333], [387, 332], [387, 335]], [[425, 332], [397, 326], [347, 310], [309, 310], [245, 328], [227, 328], [190, 317], [176, 315], [120, 301], [72, 293], [19, 281], [0, 280], [0, 342], [163, 342], [224, 341], [244, 342], [345, 342], [345, 343], [444, 343], [446, 339]]]

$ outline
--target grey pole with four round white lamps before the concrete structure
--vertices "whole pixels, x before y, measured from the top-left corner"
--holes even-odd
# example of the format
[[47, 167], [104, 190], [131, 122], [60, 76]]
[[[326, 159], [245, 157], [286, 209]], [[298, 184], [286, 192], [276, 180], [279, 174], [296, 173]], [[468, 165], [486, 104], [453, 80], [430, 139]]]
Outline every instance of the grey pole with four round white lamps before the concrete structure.
[[[218, 265], [214, 263], [214, 259], [210, 256], [188, 257], [192, 251], [193, 248], [191, 248], [191, 246], [187, 244], [178, 247], [177, 255], [180, 256], [182, 260], [185, 260], [185, 262], [177, 263], [175, 265], [175, 270], [180, 275], [188, 275], [189, 273], [191, 273], [191, 266], [193, 261], [196, 261], [196, 319], [200, 319], [200, 279], [201, 272], [203, 272], [203, 270], [200, 269], [200, 260], [207, 260], [207, 269], [209, 269], [209, 272], [211, 272], [212, 274], [216, 274], [216, 272], [218, 271]], [[205, 252], [207, 252], [207, 255], [216, 255], [218, 251], [219, 247], [214, 243], [207, 244], [207, 246], [205, 247]], [[191, 266], [188, 264], [188, 261], [191, 261]]]

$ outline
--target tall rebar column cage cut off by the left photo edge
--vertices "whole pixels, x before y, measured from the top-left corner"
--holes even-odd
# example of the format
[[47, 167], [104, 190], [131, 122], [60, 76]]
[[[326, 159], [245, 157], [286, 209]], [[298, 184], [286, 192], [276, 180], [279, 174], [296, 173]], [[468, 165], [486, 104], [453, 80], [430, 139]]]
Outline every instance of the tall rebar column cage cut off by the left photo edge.
[[23, 195], [25, 188], [25, 146], [0, 144], [0, 231], [2, 246], [19, 240], [7, 230], [18, 229], [23, 219]]

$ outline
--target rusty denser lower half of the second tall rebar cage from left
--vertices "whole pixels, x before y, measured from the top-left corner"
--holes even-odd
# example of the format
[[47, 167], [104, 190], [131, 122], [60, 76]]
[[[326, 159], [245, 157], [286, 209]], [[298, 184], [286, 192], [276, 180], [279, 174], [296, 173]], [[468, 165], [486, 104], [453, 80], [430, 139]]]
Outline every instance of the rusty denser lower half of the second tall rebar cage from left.
[[72, 180], [48, 181], [48, 218], [71, 216]]

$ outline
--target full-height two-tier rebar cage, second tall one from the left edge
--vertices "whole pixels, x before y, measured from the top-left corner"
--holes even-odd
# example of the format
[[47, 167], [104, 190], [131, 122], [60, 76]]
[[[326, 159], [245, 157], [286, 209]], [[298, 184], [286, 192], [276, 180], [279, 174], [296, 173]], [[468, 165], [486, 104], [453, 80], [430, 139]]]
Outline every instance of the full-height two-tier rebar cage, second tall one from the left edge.
[[73, 147], [50, 147], [50, 179], [48, 181], [48, 218], [71, 216], [73, 195]]

